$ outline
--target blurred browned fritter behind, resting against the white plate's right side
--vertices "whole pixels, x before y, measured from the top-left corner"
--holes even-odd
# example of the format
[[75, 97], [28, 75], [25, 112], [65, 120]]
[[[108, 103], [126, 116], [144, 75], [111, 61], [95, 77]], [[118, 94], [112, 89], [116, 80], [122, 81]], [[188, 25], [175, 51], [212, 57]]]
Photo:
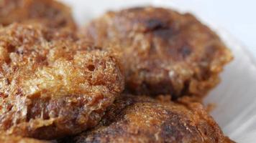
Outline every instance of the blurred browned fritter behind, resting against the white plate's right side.
[[98, 45], [119, 45], [127, 89], [134, 94], [205, 95], [232, 59], [211, 29], [191, 14], [170, 9], [110, 11], [85, 31]]

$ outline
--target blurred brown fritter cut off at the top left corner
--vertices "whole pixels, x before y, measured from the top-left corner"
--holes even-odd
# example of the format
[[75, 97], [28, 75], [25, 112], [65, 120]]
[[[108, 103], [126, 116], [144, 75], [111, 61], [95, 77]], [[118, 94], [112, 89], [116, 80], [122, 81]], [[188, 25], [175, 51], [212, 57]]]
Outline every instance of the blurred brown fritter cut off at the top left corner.
[[68, 6], [54, 0], [0, 0], [0, 24], [13, 22], [39, 22], [52, 28], [76, 28]]

